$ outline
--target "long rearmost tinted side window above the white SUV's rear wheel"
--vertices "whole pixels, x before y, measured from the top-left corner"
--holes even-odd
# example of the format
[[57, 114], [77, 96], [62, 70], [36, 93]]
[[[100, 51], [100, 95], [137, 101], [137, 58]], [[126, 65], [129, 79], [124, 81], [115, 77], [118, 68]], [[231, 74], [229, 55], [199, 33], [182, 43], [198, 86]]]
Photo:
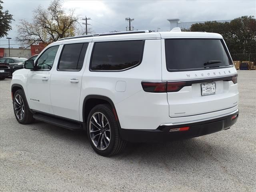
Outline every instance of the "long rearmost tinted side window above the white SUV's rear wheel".
[[144, 40], [96, 42], [90, 70], [124, 70], [142, 61]]

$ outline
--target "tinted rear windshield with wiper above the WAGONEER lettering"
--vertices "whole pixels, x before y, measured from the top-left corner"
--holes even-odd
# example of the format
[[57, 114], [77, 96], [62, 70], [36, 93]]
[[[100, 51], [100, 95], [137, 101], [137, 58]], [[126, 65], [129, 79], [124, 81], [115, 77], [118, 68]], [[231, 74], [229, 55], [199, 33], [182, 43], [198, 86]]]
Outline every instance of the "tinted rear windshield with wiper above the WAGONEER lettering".
[[232, 66], [220, 39], [166, 39], [167, 70], [204, 70]]

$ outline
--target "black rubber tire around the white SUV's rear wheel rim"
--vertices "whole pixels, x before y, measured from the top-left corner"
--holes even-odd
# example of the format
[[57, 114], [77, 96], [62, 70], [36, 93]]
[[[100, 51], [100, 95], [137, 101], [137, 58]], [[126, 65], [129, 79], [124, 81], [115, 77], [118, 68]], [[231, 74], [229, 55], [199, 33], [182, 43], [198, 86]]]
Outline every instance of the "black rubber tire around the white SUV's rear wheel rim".
[[[92, 136], [90, 134], [90, 120], [91, 120], [92, 116], [96, 113], [104, 114], [105, 118], [107, 119], [107, 121], [109, 123], [108, 129], [110, 129], [110, 134], [111, 134], [110, 142], [109, 142], [108, 146], [106, 147], [106, 149], [104, 149], [104, 150], [100, 150], [94, 145], [95, 142], [92, 140], [92, 138], [91, 138]], [[91, 123], [91, 126], [92, 126], [92, 123]], [[96, 126], [94, 126], [94, 128], [95, 127]], [[108, 104], [100, 104], [100, 105], [97, 105], [94, 108], [92, 108], [92, 110], [90, 111], [88, 118], [87, 118], [86, 129], [87, 129], [88, 139], [90, 141], [92, 148], [94, 149], [94, 151], [96, 153], [98, 153], [102, 156], [112, 156], [112, 155], [118, 154], [126, 146], [126, 142], [124, 140], [122, 140], [122, 138], [120, 137], [119, 124], [116, 121], [114, 113], [112, 112], [112, 107]], [[101, 132], [101, 131], [99, 130], [99, 132]], [[104, 136], [104, 134], [102, 133], [102, 137], [103, 136]], [[105, 142], [105, 144], [106, 144], [106, 142]]]

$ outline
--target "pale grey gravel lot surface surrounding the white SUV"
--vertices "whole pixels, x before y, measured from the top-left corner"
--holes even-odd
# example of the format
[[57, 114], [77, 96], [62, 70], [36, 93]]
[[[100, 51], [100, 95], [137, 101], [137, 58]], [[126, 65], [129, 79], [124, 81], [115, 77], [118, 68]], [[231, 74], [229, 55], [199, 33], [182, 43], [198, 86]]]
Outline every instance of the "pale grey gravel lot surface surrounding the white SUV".
[[10, 79], [0, 81], [0, 191], [256, 192], [256, 71], [238, 71], [240, 114], [231, 129], [97, 155], [84, 132], [18, 124]]

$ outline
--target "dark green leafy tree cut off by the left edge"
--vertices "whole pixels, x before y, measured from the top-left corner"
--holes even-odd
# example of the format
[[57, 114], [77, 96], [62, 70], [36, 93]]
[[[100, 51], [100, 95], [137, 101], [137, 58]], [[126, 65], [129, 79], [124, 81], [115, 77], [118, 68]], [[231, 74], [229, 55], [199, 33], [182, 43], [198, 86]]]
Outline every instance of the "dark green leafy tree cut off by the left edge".
[[8, 35], [8, 31], [12, 29], [10, 25], [12, 23], [12, 14], [9, 13], [8, 10], [3, 11], [2, 0], [0, 0], [0, 38]]

